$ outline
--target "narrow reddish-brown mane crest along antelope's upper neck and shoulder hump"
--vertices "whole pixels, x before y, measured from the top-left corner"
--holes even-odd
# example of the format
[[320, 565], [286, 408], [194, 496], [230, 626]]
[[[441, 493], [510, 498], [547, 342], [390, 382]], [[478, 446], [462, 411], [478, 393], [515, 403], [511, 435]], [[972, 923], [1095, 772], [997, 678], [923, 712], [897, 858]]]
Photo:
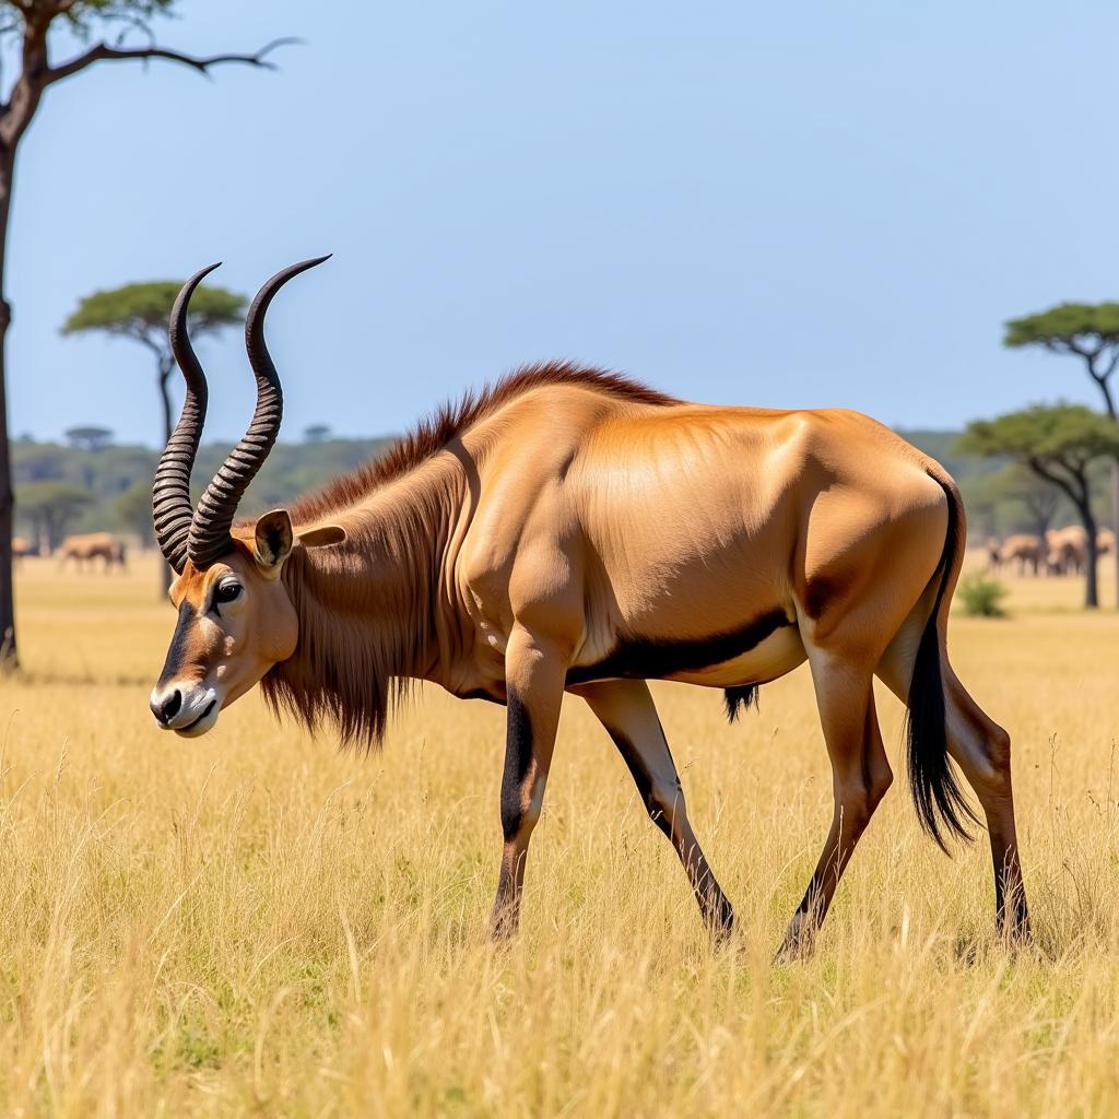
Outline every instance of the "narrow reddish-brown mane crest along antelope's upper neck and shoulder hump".
[[481, 392], [467, 392], [457, 404], [448, 402], [393, 443], [384, 454], [349, 474], [336, 478], [321, 490], [299, 498], [290, 509], [292, 520], [297, 525], [307, 524], [356, 504], [387, 482], [415, 470], [479, 420], [509, 401], [546, 385], [574, 385], [657, 407], [679, 403], [675, 397], [648, 388], [619, 373], [581, 366], [573, 361], [540, 361], [521, 366], [496, 384], [483, 386]]

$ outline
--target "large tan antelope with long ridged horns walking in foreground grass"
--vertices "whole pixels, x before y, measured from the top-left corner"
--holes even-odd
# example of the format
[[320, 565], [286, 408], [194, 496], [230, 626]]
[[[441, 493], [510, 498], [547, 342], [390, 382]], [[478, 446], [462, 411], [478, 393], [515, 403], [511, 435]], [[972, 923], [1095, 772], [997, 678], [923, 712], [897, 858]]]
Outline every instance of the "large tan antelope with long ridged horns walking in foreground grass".
[[282, 415], [265, 313], [284, 283], [326, 258], [276, 273], [254, 299], [255, 411], [197, 508], [190, 470], [207, 387], [187, 307], [217, 265], [175, 303], [170, 342], [187, 392], [153, 486], [178, 610], [151, 694], [160, 727], [205, 734], [256, 684], [278, 715], [366, 746], [410, 681], [505, 705], [490, 921], [501, 938], [518, 924], [571, 693], [613, 740], [722, 937], [733, 910], [693, 831], [647, 681], [722, 689], [733, 722], [760, 685], [807, 660], [834, 814], [783, 941], [797, 955], [892, 781], [877, 676], [909, 708], [922, 826], [947, 849], [978, 822], [958, 765], [986, 818], [998, 927], [1028, 934], [1009, 736], [948, 660], [966, 530], [939, 463], [855, 412], [689, 404], [617, 374], [544, 364], [445, 406], [321, 492], [237, 521]]

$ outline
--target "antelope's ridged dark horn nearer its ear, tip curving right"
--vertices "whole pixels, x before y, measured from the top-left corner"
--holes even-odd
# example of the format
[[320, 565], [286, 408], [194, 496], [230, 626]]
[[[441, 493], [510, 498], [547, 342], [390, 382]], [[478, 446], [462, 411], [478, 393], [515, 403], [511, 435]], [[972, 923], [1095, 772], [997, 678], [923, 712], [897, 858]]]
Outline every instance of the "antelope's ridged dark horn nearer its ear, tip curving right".
[[208, 567], [232, 547], [229, 529], [237, 515], [237, 505], [248, 483], [256, 476], [256, 471], [269, 457], [276, 435], [280, 434], [283, 391], [280, 387], [276, 367], [264, 344], [264, 316], [267, 313], [272, 297], [292, 276], [329, 258], [329, 255], [316, 256], [313, 260], [301, 261], [278, 272], [256, 293], [253, 305], [248, 309], [245, 318], [245, 350], [248, 354], [248, 364], [253, 367], [253, 375], [256, 377], [256, 407], [248, 431], [229, 452], [195, 510], [187, 540], [187, 555], [196, 567]]

